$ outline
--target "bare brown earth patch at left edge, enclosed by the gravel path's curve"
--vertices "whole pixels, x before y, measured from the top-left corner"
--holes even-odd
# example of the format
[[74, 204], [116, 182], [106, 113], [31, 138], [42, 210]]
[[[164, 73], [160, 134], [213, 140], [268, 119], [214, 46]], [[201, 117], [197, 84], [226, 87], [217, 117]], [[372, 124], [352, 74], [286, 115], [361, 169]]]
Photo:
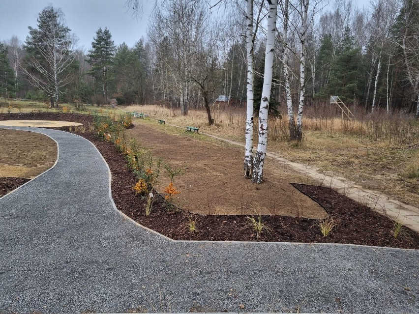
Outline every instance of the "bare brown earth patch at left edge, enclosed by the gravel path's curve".
[[57, 160], [57, 144], [34, 132], [0, 128], [0, 178], [31, 179]]

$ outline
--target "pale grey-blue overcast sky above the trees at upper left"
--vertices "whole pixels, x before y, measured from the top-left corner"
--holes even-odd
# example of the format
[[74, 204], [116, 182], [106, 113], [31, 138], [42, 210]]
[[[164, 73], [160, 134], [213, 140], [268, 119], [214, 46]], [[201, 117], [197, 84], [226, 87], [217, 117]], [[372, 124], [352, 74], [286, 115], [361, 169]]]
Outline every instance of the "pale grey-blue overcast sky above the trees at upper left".
[[[79, 37], [79, 46], [86, 51], [91, 48], [91, 41], [99, 27], [110, 30], [116, 45], [125, 42], [128, 47], [133, 47], [142, 36], [146, 37], [148, 19], [154, 5], [153, 0], [140, 1], [144, 3], [144, 13], [137, 20], [125, 7], [125, 0], [0, 0], [0, 41], [8, 40], [13, 35], [25, 41], [28, 26], [36, 28], [39, 12], [51, 3], [62, 9], [67, 26]], [[354, 2], [359, 7], [368, 5], [368, 0]]]

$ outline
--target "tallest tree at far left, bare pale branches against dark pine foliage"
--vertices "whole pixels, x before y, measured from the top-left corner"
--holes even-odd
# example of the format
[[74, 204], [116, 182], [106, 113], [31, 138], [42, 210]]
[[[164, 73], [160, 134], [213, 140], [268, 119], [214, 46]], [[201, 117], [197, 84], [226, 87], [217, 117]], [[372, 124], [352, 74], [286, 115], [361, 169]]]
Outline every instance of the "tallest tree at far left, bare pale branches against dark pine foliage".
[[29, 27], [25, 46], [29, 57], [23, 70], [30, 84], [49, 96], [54, 107], [63, 94], [62, 87], [71, 79], [68, 67], [74, 60], [74, 39], [64, 24], [61, 9], [47, 6], [39, 13], [37, 22], [37, 29]]

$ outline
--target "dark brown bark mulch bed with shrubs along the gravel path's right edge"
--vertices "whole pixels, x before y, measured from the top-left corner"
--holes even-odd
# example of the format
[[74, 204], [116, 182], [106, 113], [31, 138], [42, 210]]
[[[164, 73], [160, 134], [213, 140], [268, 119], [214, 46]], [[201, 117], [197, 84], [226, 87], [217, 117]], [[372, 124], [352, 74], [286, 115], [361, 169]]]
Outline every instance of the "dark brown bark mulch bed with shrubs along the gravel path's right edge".
[[[54, 113], [0, 114], [0, 120], [5, 119], [92, 122], [92, 116], [89, 115]], [[60, 129], [68, 131], [68, 128]], [[158, 195], [150, 216], [146, 217], [146, 200], [136, 196], [132, 189], [136, 178], [125, 166], [124, 155], [112, 143], [102, 142], [92, 133], [78, 134], [94, 143], [108, 163], [112, 172], [112, 197], [118, 209], [139, 224], [175, 240], [258, 241], [246, 216], [189, 215], [183, 211], [168, 210], [168, 203]], [[326, 187], [293, 185], [324, 207], [336, 227], [328, 237], [323, 237], [316, 220], [265, 215], [262, 216], [262, 222], [270, 230], [262, 232], [260, 241], [347, 243], [419, 249], [417, 232], [404, 227], [401, 234], [394, 238], [394, 222], [371, 208]], [[190, 232], [188, 229], [190, 217], [196, 218], [197, 232]]]

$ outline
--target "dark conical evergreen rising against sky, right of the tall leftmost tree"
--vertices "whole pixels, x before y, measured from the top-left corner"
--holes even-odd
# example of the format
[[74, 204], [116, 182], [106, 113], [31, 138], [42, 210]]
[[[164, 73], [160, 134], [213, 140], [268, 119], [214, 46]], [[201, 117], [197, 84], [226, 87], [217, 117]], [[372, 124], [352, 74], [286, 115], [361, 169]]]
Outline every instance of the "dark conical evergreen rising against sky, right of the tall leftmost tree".
[[99, 28], [96, 31], [96, 37], [93, 37], [91, 43], [92, 49], [89, 50], [88, 62], [91, 70], [88, 72], [98, 82], [101, 83], [103, 89], [103, 97], [108, 102], [109, 82], [113, 79], [111, 75], [112, 66], [115, 61], [116, 46], [112, 40], [110, 31], [105, 28]]

